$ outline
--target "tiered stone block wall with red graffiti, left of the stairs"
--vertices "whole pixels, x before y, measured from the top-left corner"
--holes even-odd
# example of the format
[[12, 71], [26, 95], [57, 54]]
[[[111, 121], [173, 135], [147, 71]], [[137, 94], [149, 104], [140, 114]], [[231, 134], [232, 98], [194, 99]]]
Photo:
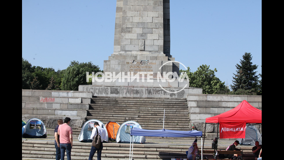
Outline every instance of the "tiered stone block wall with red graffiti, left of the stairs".
[[87, 117], [92, 92], [22, 89], [22, 120], [38, 118], [46, 128], [54, 128], [58, 119], [71, 118], [72, 128], [80, 128]]

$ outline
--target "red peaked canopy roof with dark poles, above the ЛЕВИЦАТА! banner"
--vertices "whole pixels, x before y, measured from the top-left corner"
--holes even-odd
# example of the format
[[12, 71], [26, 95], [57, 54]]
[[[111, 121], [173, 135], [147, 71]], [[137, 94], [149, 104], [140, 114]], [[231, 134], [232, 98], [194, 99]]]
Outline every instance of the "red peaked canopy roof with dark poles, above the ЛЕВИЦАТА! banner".
[[[237, 122], [262, 123], [262, 111], [250, 105], [250, 103], [248, 103], [246, 100], [243, 100], [243, 102], [241, 102], [238, 106], [225, 113], [206, 118], [204, 133], [206, 130], [206, 123], [217, 123], [219, 125], [219, 123], [237, 123]], [[218, 137], [218, 132], [219, 131], [217, 131], [217, 137]], [[203, 145], [204, 145], [204, 140], [203, 140]]]

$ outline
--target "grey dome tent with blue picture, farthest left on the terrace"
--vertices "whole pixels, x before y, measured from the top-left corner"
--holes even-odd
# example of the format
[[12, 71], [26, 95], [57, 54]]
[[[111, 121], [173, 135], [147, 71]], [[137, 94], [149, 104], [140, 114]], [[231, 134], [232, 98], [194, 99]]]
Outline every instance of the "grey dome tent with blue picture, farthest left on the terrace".
[[[22, 128], [23, 129], [23, 128]], [[47, 133], [45, 125], [38, 118], [31, 118], [25, 125], [25, 129], [22, 132], [23, 138], [46, 138]]]

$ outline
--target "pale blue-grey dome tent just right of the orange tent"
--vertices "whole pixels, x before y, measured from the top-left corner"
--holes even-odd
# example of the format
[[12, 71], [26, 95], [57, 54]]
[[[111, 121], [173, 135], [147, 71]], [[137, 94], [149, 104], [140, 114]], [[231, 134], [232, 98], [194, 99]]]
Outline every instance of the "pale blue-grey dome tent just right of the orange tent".
[[[135, 121], [127, 121], [120, 125], [116, 134], [117, 143], [130, 143], [130, 130], [136, 127], [142, 129], [142, 127]], [[144, 136], [133, 136], [134, 143], [145, 143], [146, 139]]]

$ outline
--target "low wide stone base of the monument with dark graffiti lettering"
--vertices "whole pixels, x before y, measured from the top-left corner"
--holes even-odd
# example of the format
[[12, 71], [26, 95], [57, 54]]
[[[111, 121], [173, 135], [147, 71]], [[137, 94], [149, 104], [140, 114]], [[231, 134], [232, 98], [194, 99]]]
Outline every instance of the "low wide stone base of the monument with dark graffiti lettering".
[[188, 87], [184, 79], [116, 78], [97, 77], [93, 85], [80, 85], [79, 91], [92, 91], [93, 96], [141, 97], [141, 98], [186, 98], [187, 94], [202, 94], [201, 88]]

